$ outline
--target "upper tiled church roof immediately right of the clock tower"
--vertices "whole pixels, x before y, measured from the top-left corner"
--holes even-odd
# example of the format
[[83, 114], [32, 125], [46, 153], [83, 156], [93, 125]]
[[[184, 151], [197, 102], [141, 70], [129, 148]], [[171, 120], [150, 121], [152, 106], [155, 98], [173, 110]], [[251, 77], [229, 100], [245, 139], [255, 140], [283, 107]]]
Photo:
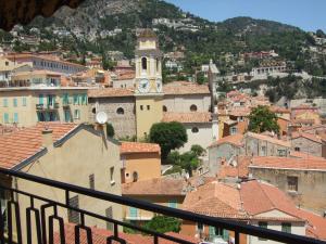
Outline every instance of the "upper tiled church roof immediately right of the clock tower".
[[175, 81], [163, 86], [164, 94], [210, 94], [209, 86]]

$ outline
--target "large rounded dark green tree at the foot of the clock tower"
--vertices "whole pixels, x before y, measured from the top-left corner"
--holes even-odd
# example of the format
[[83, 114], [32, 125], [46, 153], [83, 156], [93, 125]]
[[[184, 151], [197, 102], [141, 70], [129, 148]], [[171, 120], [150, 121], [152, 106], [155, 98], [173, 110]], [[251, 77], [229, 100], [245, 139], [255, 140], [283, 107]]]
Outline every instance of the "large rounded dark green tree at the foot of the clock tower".
[[160, 144], [162, 159], [165, 160], [171, 150], [181, 147], [188, 141], [188, 137], [180, 123], [158, 123], [151, 127], [149, 140]]

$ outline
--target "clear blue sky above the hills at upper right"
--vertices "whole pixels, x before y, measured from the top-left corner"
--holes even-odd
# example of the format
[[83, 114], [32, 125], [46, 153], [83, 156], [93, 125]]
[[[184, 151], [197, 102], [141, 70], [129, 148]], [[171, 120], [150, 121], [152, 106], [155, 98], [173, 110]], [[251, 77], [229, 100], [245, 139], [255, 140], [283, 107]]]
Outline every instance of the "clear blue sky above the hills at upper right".
[[326, 31], [326, 0], [166, 0], [210, 21], [250, 16]]

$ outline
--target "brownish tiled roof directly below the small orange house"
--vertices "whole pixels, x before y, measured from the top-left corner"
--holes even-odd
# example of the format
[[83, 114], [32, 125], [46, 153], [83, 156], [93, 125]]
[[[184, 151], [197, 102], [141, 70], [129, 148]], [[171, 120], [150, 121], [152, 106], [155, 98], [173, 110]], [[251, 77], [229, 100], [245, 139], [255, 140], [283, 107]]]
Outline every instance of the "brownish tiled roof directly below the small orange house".
[[185, 181], [183, 179], [154, 178], [122, 187], [123, 195], [184, 195]]

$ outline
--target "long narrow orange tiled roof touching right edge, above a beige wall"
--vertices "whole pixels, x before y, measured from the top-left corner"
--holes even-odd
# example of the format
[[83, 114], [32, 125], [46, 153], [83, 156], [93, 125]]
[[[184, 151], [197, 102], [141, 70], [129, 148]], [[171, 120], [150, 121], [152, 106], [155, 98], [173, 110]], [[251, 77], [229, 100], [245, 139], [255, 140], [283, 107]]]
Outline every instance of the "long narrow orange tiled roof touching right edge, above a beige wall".
[[326, 159], [259, 156], [252, 158], [252, 164], [249, 168], [251, 167], [326, 170]]

